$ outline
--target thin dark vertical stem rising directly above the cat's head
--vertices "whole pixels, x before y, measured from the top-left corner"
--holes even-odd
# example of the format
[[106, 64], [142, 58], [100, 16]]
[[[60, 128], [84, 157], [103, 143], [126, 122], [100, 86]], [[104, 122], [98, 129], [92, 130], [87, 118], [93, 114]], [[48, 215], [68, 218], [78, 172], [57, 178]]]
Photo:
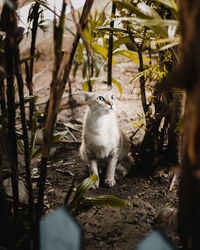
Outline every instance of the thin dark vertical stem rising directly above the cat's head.
[[[116, 4], [112, 3], [112, 17], [115, 16]], [[110, 28], [114, 28], [114, 20], [110, 22]], [[112, 52], [113, 52], [113, 31], [110, 31], [109, 35], [109, 47], [108, 47], [108, 86], [112, 85]]]

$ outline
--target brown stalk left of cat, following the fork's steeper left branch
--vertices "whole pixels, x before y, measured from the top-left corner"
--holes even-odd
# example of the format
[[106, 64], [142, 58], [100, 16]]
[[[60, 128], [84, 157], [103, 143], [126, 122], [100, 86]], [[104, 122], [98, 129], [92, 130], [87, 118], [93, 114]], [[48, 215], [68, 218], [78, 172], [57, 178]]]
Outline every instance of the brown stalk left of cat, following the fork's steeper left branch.
[[[50, 151], [50, 144], [53, 137], [54, 125], [57, 116], [57, 106], [58, 106], [58, 91], [57, 91], [57, 72], [60, 66], [61, 60], [61, 52], [62, 52], [62, 37], [63, 37], [63, 30], [64, 30], [64, 19], [65, 19], [65, 9], [66, 9], [66, 2], [63, 0], [63, 6], [61, 11], [61, 16], [59, 19], [59, 25], [56, 27], [56, 20], [54, 18], [54, 70], [52, 75], [52, 83], [51, 83], [51, 90], [50, 90], [50, 98], [48, 101], [48, 113], [47, 118], [44, 125], [44, 132], [43, 132], [43, 145], [42, 145], [42, 161], [40, 165], [40, 179], [39, 179], [39, 189], [38, 189], [38, 202], [37, 202], [37, 213], [36, 219], [39, 221], [43, 214], [43, 206], [44, 206], [44, 189], [45, 189], [45, 182], [47, 176], [47, 161]], [[51, 103], [55, 101], [54, 107], [51, 109]], [[52, 121], [49, 123], [48, 118], [51, 117]]]

